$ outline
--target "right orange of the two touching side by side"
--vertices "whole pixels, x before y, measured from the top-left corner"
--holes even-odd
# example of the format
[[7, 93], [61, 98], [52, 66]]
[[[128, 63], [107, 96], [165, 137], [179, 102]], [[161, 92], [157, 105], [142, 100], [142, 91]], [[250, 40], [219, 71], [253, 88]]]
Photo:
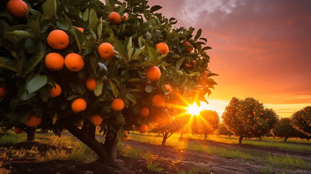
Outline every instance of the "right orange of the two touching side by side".
[[84, 67], [84, 60], [77, 53], [70, 53], [65, 57], [65, 66], [70, 71], [77, 72]]

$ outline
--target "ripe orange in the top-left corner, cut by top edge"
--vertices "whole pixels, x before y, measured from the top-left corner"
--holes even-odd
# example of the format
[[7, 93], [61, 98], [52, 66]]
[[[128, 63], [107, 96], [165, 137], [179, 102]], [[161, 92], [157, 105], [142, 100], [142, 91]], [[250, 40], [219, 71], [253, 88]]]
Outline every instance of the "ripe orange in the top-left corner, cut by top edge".
[[6, 9], [10, 15], [19, 19], [25, 18], [29, 13], [28, 5], [23, 0], [9, 0]]

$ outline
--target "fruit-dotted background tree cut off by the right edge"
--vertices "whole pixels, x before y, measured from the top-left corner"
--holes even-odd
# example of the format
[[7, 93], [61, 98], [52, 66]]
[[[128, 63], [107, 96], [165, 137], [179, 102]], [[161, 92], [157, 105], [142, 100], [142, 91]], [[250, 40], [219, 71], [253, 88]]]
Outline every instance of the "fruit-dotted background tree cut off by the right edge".
[[311, 135], [311, 106], [307, 106], [291, 116], [292, 125], [299, 131]]

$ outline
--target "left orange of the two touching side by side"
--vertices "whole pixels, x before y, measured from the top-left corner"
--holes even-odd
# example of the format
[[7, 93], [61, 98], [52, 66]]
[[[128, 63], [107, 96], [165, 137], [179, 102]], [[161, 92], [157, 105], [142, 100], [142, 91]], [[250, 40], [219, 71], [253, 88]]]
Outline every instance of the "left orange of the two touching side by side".
[[50, 71], [58, 71], [64, 67], [64, 58], [58, 53], [49, 53], [44, 58], [44, 65]]

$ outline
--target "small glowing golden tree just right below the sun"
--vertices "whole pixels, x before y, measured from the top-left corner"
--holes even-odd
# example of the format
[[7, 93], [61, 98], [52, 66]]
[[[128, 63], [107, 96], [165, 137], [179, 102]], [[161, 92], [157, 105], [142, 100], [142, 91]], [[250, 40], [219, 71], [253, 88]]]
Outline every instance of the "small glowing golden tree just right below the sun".
[[208, 134], [213, 134], [218, 128], [219, 115], [216, 111], [203, 110], [200, 115], [194, 116], [192, 123], [193, 134], [203, 134], [206, 140]]

